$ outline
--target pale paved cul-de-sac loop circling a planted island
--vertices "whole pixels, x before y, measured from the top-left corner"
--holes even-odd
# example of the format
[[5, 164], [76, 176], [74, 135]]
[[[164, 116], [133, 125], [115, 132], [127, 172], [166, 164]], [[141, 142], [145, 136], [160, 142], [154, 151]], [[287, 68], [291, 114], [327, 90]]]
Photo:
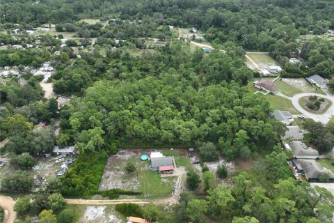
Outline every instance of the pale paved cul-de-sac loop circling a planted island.
[[[321, 123], [326, 124], [331, 119], [331, 116], [334, 116], [334, 96], [333, 95], [321, 95], [319, 93], [299, 93], [299, 94], [294, 95], [293, 97], [288, 97], [287, 95], [281, 92], [276, 93], [276, 95], [291, 100], [292, 105], [294, 105], [294, 107], [299, 112], [301, 112], [301, 114], [303, 114], [307, 118], [312, 118], [314, 121], [319, 121]], [[306, 111], [305, 109], [303, 109], [303, 107], [301, 107], [301, 105], [299, 105], [299, 99], [303, 97], [308, 97], [311, 95], [316, 95], [319, 98], [326, 98], [328, 100], [331, 100], [332, 102], [331, 107], [329, 107], [324, 114], [312, 114]]]

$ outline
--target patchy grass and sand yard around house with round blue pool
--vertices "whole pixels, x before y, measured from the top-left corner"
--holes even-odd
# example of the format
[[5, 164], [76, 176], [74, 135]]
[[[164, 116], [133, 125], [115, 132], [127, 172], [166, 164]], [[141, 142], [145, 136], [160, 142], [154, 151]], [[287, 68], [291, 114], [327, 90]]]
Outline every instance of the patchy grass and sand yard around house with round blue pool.
[[[133, 190], [143, 192], [143, 194], [138, 195], [138, 198], [145, 199], [170, 197], [177, 177], [161, 178], [157, 171], [150, 169], [150, 161], [141, 161], [140, 155], [143, 153], [150, 154], [151, 151], [127, 149], [109, 157], [100, 183], [100, 190], [109, 190], [111, 188]], [[164, 155], [168, 154], [164, 153]], [[125, 171], [127, 162], [132, 162], [136, 167], [134, 173], [129, 174]], [[182, 162], [185, 161], [182, 160]]]

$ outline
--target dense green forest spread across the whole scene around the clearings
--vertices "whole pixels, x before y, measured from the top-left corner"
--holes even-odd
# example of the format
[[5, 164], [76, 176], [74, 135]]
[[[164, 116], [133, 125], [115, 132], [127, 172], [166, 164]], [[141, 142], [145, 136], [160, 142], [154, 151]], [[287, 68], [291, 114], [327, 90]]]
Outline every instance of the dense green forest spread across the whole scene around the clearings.
[[[0, 155], [10, 160], [0, 167], [0, 194], [24, 194], [15, 195], [16, 221], [83, 220], [64, 198], [145, 198], [138, 188], [100, 189], [110, 157], [127, 148], [196, 148], [194, 160], [168, 151], [184, 171], [173, 205], [147, 199], [115, 211], [159, 223], [331, 222], [333, 194], [294, 178], [292, 151], [280, 144], [287, 127], [272, 116], [279, 96], [250, 91], [261, 75], [245, 61], [265, 54], [283, 68], [279, 81], [320, 75], [329, 80], [324, 94], [333, 93], [333, 12], [331, 0], [1, 1], [0, 71], [21, 74], [0, 77]], [[38, 75], [45, 63], [46, 81]], [[333, 118], [304, 118], [294, 124], [324, 157], [334, 146]], [[56, 145], [74, 146], [76, 161], [35, 190], [33, 169]], [[138, 181], [135, 164], [127, 167], [124, 178]]]

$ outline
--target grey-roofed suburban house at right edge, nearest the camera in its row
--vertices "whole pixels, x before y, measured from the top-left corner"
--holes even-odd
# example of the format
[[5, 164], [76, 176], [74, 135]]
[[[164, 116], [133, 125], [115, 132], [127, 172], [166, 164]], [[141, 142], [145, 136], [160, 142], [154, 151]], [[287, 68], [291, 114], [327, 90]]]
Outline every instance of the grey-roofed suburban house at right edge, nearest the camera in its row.
[[319, 182], [322, 175], [327, 174], [327, 181], [334, 182], [334, 174], [330, 169], [325, 169], [315, 160], [292, 160], [292, 166], [299, 174], [305, 175], [308, 182]]

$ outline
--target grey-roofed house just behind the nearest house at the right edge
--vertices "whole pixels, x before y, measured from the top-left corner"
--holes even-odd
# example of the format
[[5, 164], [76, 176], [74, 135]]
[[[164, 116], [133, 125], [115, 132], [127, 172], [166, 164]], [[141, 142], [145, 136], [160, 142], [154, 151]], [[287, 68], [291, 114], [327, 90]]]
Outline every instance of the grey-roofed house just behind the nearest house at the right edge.
[[303, 141], [283, 142], [283, 146], [287, 150], [291, 150], [296, 159], [317, 159], [319, 152], [313, 148], [308, 148]]

